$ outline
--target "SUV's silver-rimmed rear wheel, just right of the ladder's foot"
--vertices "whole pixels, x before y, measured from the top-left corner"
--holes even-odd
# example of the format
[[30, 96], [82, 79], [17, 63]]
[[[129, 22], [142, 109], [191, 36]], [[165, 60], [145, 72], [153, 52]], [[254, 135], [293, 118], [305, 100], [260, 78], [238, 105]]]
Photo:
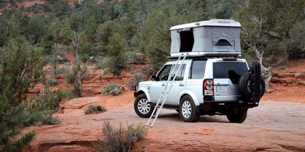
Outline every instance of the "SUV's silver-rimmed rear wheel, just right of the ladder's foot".
[[189, 95], [180, 100], [180, 117], [184, 122], [195, 123], [199, 119], [199, 114], [195, 110], [195, 103]]

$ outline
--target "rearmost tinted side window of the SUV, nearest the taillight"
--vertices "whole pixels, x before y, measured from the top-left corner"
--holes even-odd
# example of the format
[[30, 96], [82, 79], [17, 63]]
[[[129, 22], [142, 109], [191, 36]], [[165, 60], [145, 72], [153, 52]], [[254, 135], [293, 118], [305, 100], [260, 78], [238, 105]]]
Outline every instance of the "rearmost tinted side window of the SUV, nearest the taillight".
[[206, 70], [206, 61], [194, 61], [192, 64], [191, 79], [202, 79]]

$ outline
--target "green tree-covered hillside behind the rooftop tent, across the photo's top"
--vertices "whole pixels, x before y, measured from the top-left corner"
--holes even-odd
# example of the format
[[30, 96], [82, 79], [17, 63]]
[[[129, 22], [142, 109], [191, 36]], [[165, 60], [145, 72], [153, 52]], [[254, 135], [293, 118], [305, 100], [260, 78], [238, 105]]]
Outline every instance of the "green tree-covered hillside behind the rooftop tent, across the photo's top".
[[243, 26], [245, 57], [256, 60], [257, 49], [264, 52], [264, 61], [278, 66], [285, 64], [287, 58], [305, 55], [302, 0], [53, 0], [21, 5], [26, 2], [29, 1], [0, 1], [0, 46], [22, 36], [41, 54], [58, 54], [70, 46], [68, 39], [75, 31], [80, 36], [80, 58], [88, 60], [91, 56], [106, 56], [110, 37], [118, 33], [124, 39], [123, 53], [142, 52], [157, 70], [169, 55], [171, 26], [234, 19]]

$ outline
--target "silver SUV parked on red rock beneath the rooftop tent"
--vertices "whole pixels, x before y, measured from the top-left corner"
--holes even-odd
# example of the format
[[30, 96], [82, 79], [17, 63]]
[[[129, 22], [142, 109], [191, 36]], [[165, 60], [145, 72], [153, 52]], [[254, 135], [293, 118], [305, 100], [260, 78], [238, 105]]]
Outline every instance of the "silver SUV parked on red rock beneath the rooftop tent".
[[[179, 71], [181, 61], [174, 66], [176, 62], [167, 62], [150, 81], [136, 84], [134, 109], [138, 116], [152, 115], [164, 85], [173, 78], [163, 108], [176, 110], [184, 122], [196, 122], [201, 115], [216, 114], [226, 115], [232, 123], [242, 123], [248, 108], [258, 106], [259, 100], [251, 97], [252, 79], [245, 59], [193, 57], [185, 59]], [[169, 78], [172, 71], [176, 77]], [[260, 83], [261, 97], [264, 81]]]

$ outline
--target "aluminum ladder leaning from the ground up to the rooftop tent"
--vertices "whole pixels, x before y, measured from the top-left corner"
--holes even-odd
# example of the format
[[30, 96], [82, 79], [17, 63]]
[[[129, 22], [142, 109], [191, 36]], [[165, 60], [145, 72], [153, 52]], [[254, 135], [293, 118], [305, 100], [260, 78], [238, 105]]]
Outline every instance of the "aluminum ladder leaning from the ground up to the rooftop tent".
[[[170, 72], [170, 75], [168, 76], [168, 79], [167, 79], [167, 81], [166, 81], [166, 83], [165, 83], [165, 85], [164, 85], [164, 87], [163, 87], [163, 89], [162, 89], [162, 93], [161, 93], [161, 95], [160, 95], [160, 98], [159, 98], [159, 100], [158, 100], [158, 102], [157, 102], [157, 104], [156, 104], [156, 106], [155, 106], [155, 109], [152, 111], [152, 115], [149, 117], [149, 120], [148, 120], [146, 126], [151, 126], [151, 127], [152, 127], [152, 126], [155, 124], [156, 119], [158, 118], [159, 113], [160, 113], [160, 111], [161, 111], [161, 109], [162, 109], [162, 107], [163, 107], [163, 105], [164, 105], [164, 102], [165, 102], [165, 100], [166, 100], [166, 98], [167, 98], [167, 95], [168, 95], [168, 93], [170, 92], [171, 87], [173, 86], [173, 83], [174, 83], [174, 81], [175, 81], [175, 78], [177, 77], [176, 73], [177, 73], [177, 72], [180, 70], [180, 68], [182, 67], [183, 61], [185, 60], [185, 58], [186, 58], [187, 55], [188, 55], [188, 54], [185, 54], [185, 55], [184, 55], [184, 54], [180, 54], [180, 56], [179, 56], [177, 62], [176, 62], [175, 64], [173, 64], [174, 68], [173, 68], [173, 70]], [[178, 64], [178, 62], [179, 62], [179, 60], [181, 59], [182, 56], [184, 56], [184, 57], [183, 57], [183, 59], [182, 59], [182, 61], [181, 61], [181, 63], [180, 63], [180, 66], [178, 67], [177, 71], [175, 71], [175, 73], [173, 73], [173, 71], [174, 71], [176, 65]], [[175, 76], [174, 76], [173, 80], [171, 80], [171, 82], [170, 82], [170, 79], [171, 79], [171, 77], [172, 77], [173, 74], [175, 74]], [[170, 85], [169, 85], [169, 87], [167, 87], [167, 84], [169, 84], [169, 83], [170, 83]], [[164, 99], [163, 99], [163, 101], [162, 101], [162, 104], [159, 105], [159, 103], [160, 103], [162, 97], [164, 97]], [[157, 114], [154, 115], [154, 113], [156, 112], [157, 108], [159, 108], [159, 110], [158, 110]], [[152, 122], [151, 125], [149, 125], [149, 122], [152, 120], [152, 117], [154, 117], [153, 122]]]

